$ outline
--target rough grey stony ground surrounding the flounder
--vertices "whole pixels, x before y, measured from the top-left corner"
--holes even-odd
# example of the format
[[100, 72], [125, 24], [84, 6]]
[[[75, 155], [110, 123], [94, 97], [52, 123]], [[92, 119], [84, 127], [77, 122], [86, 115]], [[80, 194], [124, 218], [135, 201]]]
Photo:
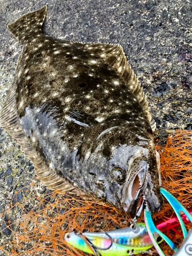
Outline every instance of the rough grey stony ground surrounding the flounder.
[[[7, 24], [45, 4], [48, 6], [45, 34], [123, 47], [147, 95], [157, 129], [167, 130], [159, 133], [160, 138], [165, 138], [172, 129], [192, 130], [192, 5], [189, 0], [1, 0], [0, 109], [22, 51]], [[0, 129], [0, 214], [15, 192], [30, 184], [33, 177], [33, 166], [27, 156]], [[22, 193], [17, 197], [22, 201]], [[0, 239], [7, 235], [8, 231], [0, 233]]]

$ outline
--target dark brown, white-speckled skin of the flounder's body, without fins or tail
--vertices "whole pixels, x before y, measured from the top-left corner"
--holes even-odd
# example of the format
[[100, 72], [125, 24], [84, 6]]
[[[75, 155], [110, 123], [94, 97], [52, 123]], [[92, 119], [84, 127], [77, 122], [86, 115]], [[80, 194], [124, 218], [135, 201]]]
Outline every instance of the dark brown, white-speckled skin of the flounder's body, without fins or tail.
[[[123, 79], [86, 45], [46, 36], [40, 28], [23, 28], [18, 36], [24, 48], [16, 70], [17, 114], [32, 147], [75, 188], [119, 210], [145, 164], [146, 179], [127, 214], [135, 216], [143, 193], [154, 214], [162, 197], [153, 132], [142, 107]], [[141, 161], [129, 169], [134, 156]], [[113, 179], [114, 166], [124, 172], [122, 183]]]

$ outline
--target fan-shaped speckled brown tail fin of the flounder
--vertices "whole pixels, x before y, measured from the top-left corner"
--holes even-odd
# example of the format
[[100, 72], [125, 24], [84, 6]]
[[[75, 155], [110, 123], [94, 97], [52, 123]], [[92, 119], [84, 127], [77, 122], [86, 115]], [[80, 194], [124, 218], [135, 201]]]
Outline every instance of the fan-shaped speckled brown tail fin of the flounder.
[[16, 19], [15, 22], [8, 24], [7, 27], [14, 37], [21, 42], [25, 42], [29, 36], [42, 33], [41, 27], [44, 23], [46, 13], [47, 6], [45, 5], [37, 11], [24, 14]]

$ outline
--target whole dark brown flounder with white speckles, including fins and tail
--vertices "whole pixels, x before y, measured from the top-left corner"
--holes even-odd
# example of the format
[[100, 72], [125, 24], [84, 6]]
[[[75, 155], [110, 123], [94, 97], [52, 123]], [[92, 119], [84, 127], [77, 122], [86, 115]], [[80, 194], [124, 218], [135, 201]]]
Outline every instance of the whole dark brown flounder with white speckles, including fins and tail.
[[135, 216], [163, 202], [148, 104], [122, 47], [42, 34], [47, 7], [9, 24], [23, 44], [2, 126], [49, 188]]

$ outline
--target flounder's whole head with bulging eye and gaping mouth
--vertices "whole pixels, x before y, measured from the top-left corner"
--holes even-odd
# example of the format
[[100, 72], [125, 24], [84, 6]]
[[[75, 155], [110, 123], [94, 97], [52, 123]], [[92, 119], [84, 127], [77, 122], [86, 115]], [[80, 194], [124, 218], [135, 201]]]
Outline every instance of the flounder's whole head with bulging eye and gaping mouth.
[[113, 126], [92, 145], [86, 165], [98, 198], [130, 217], [135, 217], [142, 199], [152, 215], [159, 211], [163, 203], [160, 159], [152, 132]]

